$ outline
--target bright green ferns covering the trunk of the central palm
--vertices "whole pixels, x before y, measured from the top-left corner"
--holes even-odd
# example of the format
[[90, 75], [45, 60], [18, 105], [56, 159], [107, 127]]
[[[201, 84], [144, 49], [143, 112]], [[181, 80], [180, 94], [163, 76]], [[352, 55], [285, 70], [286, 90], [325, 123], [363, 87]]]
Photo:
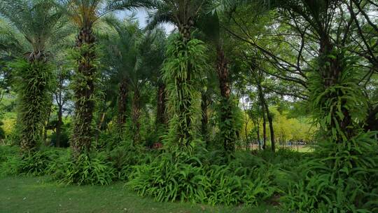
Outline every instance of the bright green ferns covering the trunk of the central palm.
[[170, 146], [186, 149], [194, 139], [193, 123], [199, 111], [196, 99], [200, 95], [196, 85], [207, 67], [205, 51], [202, 41], [187, 41], [181, 34], [172, 36], [167, 48], [163, 78], [167, 83], [168, 107], [173, 115], [169, 121]]

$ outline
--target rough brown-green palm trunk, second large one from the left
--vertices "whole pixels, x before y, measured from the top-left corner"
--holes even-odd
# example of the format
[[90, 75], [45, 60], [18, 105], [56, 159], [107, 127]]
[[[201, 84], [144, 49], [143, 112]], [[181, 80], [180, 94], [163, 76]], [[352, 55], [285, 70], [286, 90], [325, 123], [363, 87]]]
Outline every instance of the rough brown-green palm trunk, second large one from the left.
[[80, 52], [78, 69], [76, 71], [75, 92], [75, 121], [72, 137], [73, 156], [77, 158], [84, 151], [89, 151], [92, 141], [92, 117], [94, 111], [94, 66], [95, 38], [92, 26], [80, 29], [76, 38], [76, 48]]

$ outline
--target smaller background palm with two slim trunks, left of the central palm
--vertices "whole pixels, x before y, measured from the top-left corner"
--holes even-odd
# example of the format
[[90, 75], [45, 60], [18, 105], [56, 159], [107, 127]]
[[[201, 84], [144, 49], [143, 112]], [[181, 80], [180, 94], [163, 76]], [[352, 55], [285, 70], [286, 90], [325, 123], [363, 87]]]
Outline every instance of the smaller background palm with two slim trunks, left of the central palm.
[[126, 121], [127, 94], [132, 92], [131, 118], [133, 123], [134, 142], [139, 141], [141, 90], [151, 76], [160, 71], [163, 61], [164, 33], [157, 30], [145, 33], [139, 29], [139, 24], [131, 20], [123, 22], [109, 17], [105, 21], [115, 29], [107, 41], [107, 58], [114, 71], [114, 77], [119, 83], [118, 92], [118, 128], [123, 130]]

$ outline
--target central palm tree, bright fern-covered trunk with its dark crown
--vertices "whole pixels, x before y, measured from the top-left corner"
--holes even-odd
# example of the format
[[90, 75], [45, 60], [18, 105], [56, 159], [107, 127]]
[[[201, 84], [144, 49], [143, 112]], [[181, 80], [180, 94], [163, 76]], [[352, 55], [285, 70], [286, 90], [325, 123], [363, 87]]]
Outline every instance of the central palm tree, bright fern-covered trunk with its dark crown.
[[[181, 147], [186, 147], [190, 144], [193, 135], [192, 120], [193, 120], [193, 87], [194, 78], [200, 73], [200, 69], [204, 69], [204, 55], [188, 55], [187, 58], [181, 57], [190, 52], [189, 48], [198, 48], [197, 53], [202, 53], [202, 43], [190, 43], [192, 38], [192, 30], [195, 27], [200, 11], [207, 7], [209, 1], [207, 0], [163, 0], [156, 1], [154, 4], [155, 10], [150, 14], [149, 26], [154, 27], [161, 22], [171, 22], [179, 29], [179, 37], [175, 41], [172, 40], [172, 48], [167, 51], [167, 60], [165, 69], [166, 82], [170, 84], [167, 87], [169, 93], [170, 109], [174, 112], [174, 117], [171, 120], [171, 127], [174, 135], [172, 141], [179, 144]], [[195, 64], [190, 61], [190, 57], [194, 59], [199, 57], [200, 60]], [[182, 63], [175, 61], [182, 59]], [[183, 65], [185, 64], [185, 65]], [[173, 66], [173, 67], [172, 67]], [[183, 67], [180, 67], [183, 66]]]

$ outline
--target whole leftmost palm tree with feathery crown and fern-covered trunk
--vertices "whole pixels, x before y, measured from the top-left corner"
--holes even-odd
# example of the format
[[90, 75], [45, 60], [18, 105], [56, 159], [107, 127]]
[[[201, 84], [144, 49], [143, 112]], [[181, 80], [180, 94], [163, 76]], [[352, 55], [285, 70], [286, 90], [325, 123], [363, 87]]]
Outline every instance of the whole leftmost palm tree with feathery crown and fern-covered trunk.
[[66, 35], [62, 33], [63, 13], [52, 0], [3, 0], [0, 13], [10, 23], [5, 26], [10, 31], [1, 32], [1, 48], [24, 57], [13, 69], [18, 80], [20, 144], [22, 151], [31, 151], [36, 148], [50, 106], [49, 50]]

